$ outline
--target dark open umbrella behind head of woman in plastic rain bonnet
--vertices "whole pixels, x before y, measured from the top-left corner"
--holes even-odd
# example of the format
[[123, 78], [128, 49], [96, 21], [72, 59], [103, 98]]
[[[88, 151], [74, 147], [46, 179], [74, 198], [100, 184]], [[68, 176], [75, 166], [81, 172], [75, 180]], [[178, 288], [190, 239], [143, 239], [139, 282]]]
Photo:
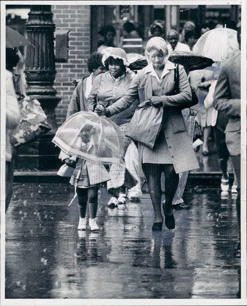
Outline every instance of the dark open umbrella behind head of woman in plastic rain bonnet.
[[[214, 63], [211, 58], [206, 58], [202, 55], [185, 51], [171, 51], [168, 60], [174, 64], [187, 66], [189, 71], [204, 69]], [[148, 62], [146, 58], [143, 57], [131, 63], [128, 68], [130, 70], [140, 70], [147, 65]]]

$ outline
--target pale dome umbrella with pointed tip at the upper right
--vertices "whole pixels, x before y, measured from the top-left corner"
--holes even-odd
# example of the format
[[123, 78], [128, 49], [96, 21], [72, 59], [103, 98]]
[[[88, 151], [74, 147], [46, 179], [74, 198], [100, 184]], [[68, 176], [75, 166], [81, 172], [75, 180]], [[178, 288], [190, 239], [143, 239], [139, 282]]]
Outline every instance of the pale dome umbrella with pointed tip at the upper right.
[[237, 31], [228, 28], [216, 28], [204, 33], [194, 47], [195, 53], [214, 62], [223, 62], [239, 50]]

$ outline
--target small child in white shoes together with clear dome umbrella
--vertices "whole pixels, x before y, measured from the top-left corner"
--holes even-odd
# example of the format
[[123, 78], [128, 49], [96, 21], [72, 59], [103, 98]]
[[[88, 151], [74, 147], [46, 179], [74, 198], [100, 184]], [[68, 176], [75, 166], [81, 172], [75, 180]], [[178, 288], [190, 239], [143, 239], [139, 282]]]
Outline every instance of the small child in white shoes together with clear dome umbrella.
[[[87, 114], [94, 118], [97, 117], [98, 121], [102, 121], [102, 118], [99, 118], [96, 114], [87, 112], [76, 113], [68, 118], [61, 128], [58, 129], [53, 142], [58, 145], [65, 154], [70, 156], [69, 159], [65, 159], [66, 165], [75, 168], [70, 178], [70, 184], [75, 186], [75, 196], [73, 200], [78, 195], [78, 210], [80, 215], [78, 230], [86, 230], [87, 202], [89, 202], [90, 230], [99, 230], [96, 223], [98, 191], [100, 183], [111, 179], [104, 165], [114, 160], [117, 162], [116, 155], [121, 152], [122, 143], [120, 142], [118, 144], [118, 136], [116, 135], [116, 131], [118, 132], [117, 125], [109, 122], [106, 118], [103, 119], [103, 121], [107, 121], [107, 129], [100, 127], [97, 120], [94, 122], [85, 120], [86, 124], [84, 124], [82, 128], [76, 129], [75, 126], [77, 122], [75, 120], [77, 117], [84, 115], [84, 118], [86, 118]], [[69, 127], [67, 123], [70, 124]], [[111, 125], [114, 126], [112, 127]], [[73, 131], [73, 129], [78, 130], [77, 136], [75, 138], [73, 138], [73, 136], [71, 137], [71, 146], [68, 146], [68, 131]], [[119, 131], [119, 134], [120, 133]], [[111, 137], [111, 139], [109, 139], [109, 137]], [[106, 139], [108, 141], [106, 141]], [[68, 147], [70, 147], [70, 149], [68, 149]]]

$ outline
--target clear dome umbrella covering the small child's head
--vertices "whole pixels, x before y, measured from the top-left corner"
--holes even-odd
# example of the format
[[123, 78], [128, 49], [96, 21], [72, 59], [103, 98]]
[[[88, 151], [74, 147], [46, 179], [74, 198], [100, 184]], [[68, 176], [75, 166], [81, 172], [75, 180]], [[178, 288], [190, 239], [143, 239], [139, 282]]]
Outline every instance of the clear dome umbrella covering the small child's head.
[[114, 164], [123, 154], [118, 126], [104, 116], [78, 112], [58, 129], [52, 142], [68, 155], [92, 163]]

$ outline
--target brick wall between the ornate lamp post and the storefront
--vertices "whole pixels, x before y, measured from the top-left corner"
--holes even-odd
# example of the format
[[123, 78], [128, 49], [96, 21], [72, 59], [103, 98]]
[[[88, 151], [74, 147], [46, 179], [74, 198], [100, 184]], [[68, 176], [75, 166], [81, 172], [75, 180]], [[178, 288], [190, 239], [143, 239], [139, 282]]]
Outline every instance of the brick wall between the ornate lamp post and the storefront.
[[53, 22], [57, 30], [69, 32], [69, 54], [66, 63], [56, 63], [54, 88], [62, 100], [56, 107], [60, 126], [66, 117], [74, 85], [71, 79], [80, 79], [88, 74], [87, 59], [90, 54], [90, 5], [52, 5]]

